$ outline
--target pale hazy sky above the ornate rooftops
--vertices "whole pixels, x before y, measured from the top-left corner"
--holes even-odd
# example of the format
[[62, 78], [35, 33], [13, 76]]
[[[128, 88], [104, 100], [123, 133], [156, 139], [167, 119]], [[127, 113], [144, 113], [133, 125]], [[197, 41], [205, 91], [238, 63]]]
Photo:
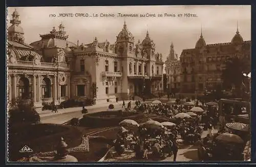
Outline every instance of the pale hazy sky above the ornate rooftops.
[[[102, 7], [9, 7], [7, 9], [8, 27], [14, 9], [22, 21], [20, 26], [25, 33], [25, 42], [40, 40], [39, 34], [49, 33], [53, 26], [58, 29], [62, 22], [69, 35], [68, 40], [77, 43], [91, 43], [95, 37], [99, 42], [106, 39], [114, 43], [123, 28], [142, 41], [146, 31], [156, 44], [156, 52], [162, 53], [163, 61], [169, 54], [173, 42], [175, 52], [180, 56], [183, 49], [195, 47], [202, 34], [206, 44], [230, 42], [237, 31], [244, 40], [251, 40], [251, 7], [246, 6], [102, 6]], [[59, 13], [73, 13], [73, 17], [58, 17]], [[100, 13], [114, 14], [114, 17], [76, 17], [76, 13], [93, 16]], [[122, 14], [138, 14], [139, 17], [118, 17]], [[141, 14], [150, 17], [140, 17]], [[164, 13], [169, 15], [164, 17]], [[185, 13], [196, 14], [185, 17]], [[53, 17], [53, 14], [56, 16]], [[153, 17], [153, 14], [156, 17]], [[163, 14], [161, 17], [160, 14]], [[174, 15], [171, 17], [170, 15]], [[182, 14], [178, 17], [178, 14]], [[159, 17], [158, 17], [159, 16]]]

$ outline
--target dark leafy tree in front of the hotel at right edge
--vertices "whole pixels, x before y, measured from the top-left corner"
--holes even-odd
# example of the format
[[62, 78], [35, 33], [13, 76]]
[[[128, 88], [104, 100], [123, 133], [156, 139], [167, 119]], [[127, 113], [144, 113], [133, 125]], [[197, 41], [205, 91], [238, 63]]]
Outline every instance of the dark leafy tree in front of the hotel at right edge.
[[225, 68], [222, 70], [223, 88], [234, 88], [235, 94], [241, 94], [243, 81], [246, 77], [243, 74], [250, 73], [250, 61], [237, 56], [225, 61]]

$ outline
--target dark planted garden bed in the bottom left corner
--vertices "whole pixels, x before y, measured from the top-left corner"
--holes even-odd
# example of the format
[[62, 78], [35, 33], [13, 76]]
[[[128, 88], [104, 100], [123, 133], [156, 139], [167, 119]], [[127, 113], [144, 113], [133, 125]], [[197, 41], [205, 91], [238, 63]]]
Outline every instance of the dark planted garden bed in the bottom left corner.
[[[57, 124], [20, 124], [9, 128], [9, 161], [16, 161], [36, 152], [48, 152], [56, 149], [63, 137], [68, 148], [81, 144], [82, 133], [72, 126]], [[31, 153], [20, 153], [19, 150], [28, 146]]]

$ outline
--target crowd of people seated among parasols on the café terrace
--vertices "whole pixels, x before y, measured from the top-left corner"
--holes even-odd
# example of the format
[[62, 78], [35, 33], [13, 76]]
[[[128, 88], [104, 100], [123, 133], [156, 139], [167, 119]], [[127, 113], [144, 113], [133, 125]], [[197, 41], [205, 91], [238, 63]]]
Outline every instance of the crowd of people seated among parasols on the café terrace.
[[[163, 157], [165, 154], [168, 154], [168, 156], [174, 155], [174, 161], [176, 161], [179, 142], [195, 144], [201, 141], [202, 132], [207, 129], [208, 136], [212, 137], [212, 131], [218, 122], [218, 107], [205, 106], [199, 100], [195, 100], [194, 106], [184, 106], [182, 105], [184, 102], [190, 102], [190, 99], [176, 99], [175, 104], [171, 105], [163, 103], [146, 104], [137, 100], [134, 108], [131, 107], [131, 102], [129, 102], [127, 110], [161, 115], [173, 119], [172, 122], [175, 122], [175, 124], [160, 129], [139, 126], [136, 132], [120, 132], [115, 142], [117, 152], [122, 154], [125, 149], [133, 148], [136, 158], [147, 159], [147, 154], [152, 152], [154, 157]], [[204, 108], [205, 112], [199, 112], [190, 118], [175, 117], [178, 113], [189, 112], [195, 106]], [[122, 107], [125, 107], [124, 102]]]

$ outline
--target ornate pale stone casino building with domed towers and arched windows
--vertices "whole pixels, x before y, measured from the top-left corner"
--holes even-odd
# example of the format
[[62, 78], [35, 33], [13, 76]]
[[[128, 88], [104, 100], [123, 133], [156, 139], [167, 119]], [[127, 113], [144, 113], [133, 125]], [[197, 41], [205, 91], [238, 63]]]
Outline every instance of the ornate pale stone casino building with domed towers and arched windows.
[[68, 41], [65, 26], [24, 43], [19, 14], [12, 14], [8, 28], [8, 99], [61, 103], [70, 98], [95, 98], [96, 103], [157, 94], [163, 90], [162, 55], [147, 32], [135, 43], [124, 22], [116, 42], [88, 44]]

